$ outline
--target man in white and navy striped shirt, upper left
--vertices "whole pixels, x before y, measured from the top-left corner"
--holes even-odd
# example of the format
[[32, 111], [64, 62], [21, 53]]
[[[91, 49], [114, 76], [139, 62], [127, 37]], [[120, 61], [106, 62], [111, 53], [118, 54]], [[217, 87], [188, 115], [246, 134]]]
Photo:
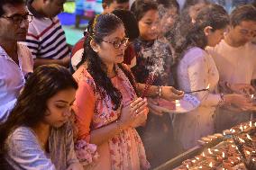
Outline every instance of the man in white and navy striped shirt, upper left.
[[34, 67], [59, 64], [69, 67], [69, 46], [57, 14], [66, 0], [28, 0], [33, 20], [29, 24], [25, 44], [31, 49]]

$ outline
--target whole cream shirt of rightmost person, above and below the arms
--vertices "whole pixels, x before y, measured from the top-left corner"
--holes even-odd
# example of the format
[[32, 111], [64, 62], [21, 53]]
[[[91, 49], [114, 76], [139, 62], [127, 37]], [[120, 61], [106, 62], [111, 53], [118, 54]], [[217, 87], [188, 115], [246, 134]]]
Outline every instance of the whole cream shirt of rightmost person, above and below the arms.
[[[251, 42], [241, 47], [232, 47], [222, 40], [214, 48], [207, 48], [207, 51], [215, 59], [220, 81], [251, 84], [251, 80], [256, 78], [256, 45]], [[217, 131], [227, 130], [243, 121], [249, 121], [250, 117], [251, 112], [237, 113], [220, 108], [216, 112], [215, 127]]]

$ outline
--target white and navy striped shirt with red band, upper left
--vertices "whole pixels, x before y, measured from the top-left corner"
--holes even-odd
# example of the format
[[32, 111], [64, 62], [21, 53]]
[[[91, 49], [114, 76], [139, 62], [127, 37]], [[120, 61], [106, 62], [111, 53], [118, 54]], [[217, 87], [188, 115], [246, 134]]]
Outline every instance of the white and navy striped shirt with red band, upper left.
[[58, 17], [42, 17], [31, 4], [27, 5], [29, 12], [34, 16], [25, 41], [32, 51], [32, 57], [61, 59], [69, 56], [69, 46]]

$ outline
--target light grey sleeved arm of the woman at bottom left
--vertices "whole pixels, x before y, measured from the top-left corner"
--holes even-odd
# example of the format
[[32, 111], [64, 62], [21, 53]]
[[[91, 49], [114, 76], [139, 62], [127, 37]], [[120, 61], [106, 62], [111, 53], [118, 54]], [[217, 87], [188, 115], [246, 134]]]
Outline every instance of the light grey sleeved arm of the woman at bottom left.
[[20, 127], [6, 140], [6, 160], [14, 167], [26, 170], [55, 170], [51, 160], [45, 156], [32, 130]]

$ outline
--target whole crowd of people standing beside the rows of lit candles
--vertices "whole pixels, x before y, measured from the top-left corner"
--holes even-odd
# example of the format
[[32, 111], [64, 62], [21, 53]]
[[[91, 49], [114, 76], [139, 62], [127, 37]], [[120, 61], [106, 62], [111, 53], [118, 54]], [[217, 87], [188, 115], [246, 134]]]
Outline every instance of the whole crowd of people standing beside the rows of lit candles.
[[0, 1], [1, 169], [151, 169], [255, 117], [255, 3], [103, 0], [70, 47], [65, 2]]

